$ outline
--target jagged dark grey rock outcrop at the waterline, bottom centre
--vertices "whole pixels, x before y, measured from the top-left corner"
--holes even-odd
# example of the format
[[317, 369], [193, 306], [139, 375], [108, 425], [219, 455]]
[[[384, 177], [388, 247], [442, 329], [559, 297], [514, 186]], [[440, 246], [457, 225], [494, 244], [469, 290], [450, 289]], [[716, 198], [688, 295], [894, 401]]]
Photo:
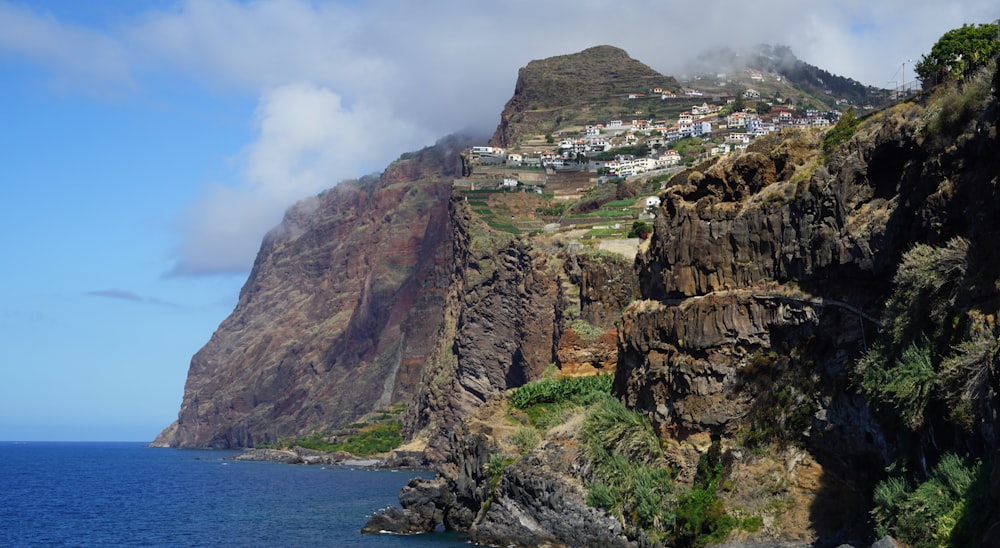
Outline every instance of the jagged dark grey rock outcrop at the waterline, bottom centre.
[[362, 532], [426, 532], [444, 525], [492, 546], [649, 545], [640, 532], [587, 505], [586, 459], [571, 432], [553, 433], [497, 476], [490, 473], [491, 457], [503, 452], [493, 436], [459, 425], [449, 446], [437, 477], [411, 480], [399, 493], [401, 507], [376, 513]]

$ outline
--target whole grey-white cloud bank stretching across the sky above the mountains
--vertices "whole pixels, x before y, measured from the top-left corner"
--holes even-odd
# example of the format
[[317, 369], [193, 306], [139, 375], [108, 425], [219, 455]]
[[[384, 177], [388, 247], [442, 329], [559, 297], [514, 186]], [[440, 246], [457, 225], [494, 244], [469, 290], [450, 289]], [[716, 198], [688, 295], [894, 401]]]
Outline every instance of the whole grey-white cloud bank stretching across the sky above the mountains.
[[78, 86], [155, 94], [146, 77], [167, 71], [257, 98], [236, 180], [206, 184], [176, 223], [172, 274], [207, 275], [245, 272], [296, 200], [447, 133], [492, 130], [532, 59], [612, 44], [676, 74], [705, 49], [764, 42], [885, 86], [946, 30], [998, 16], [995, 0], [184, 0], [98, 28], [0, 0], [0, 55]]

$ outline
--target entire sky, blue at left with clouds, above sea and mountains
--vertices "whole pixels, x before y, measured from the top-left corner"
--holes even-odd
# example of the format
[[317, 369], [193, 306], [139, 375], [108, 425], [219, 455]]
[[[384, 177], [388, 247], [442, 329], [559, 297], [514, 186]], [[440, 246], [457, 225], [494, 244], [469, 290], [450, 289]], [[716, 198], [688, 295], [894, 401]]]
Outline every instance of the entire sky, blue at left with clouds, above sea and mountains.
[[283, 210], [492, 131], [531, 59], [607, 43], [677, 74], [768, 42], [886, 86], [943, 32], [1000, 17], [993, 0], [672, 4], [0, 0], [0, 440], [152, 439]]

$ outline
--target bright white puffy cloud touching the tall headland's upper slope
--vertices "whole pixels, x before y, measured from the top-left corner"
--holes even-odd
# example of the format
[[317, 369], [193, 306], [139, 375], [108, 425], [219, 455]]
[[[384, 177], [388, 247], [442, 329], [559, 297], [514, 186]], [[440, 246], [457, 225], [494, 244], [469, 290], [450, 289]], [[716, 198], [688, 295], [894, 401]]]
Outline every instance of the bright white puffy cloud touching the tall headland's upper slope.
[[265, 92], [256, 130], [239, 156], [241, 185], [213, 187], [181, 219], [173, 274], [245, 271], [288, 206], [432, 140], [388, 109], [346, 108], [330, 89], [307, 83]]

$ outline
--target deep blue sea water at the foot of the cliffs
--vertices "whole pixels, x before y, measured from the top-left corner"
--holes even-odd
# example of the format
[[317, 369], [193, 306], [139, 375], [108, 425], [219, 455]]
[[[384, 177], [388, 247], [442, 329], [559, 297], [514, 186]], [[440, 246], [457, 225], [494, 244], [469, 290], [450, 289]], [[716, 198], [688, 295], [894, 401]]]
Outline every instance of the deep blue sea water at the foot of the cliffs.
[[233, 454], [0, 442], [0, 546], [468, 546], [443, 532], [359, 533], [419, 474]]

